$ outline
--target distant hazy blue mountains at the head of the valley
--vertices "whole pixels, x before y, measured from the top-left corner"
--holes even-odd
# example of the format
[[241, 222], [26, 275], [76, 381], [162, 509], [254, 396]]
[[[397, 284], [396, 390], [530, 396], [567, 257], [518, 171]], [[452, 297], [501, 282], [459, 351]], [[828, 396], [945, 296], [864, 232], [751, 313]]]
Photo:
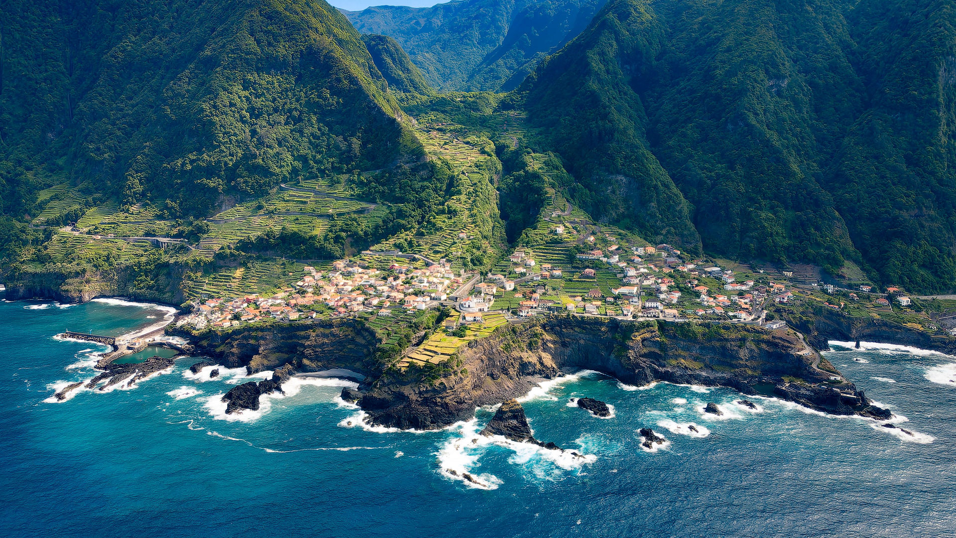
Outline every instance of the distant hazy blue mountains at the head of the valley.
[[344, 11], [363, 34], [394, 37], [440, 90], [509, 91], [579, 34], [606, 0], [463, 0]]

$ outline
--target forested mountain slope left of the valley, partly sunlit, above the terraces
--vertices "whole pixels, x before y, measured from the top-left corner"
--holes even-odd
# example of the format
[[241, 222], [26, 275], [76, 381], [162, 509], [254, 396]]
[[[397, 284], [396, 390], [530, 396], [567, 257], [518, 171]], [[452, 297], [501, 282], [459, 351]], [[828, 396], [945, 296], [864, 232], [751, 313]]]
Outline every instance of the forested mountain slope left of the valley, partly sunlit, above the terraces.
[[[424, 155], [324, 0], [5, 2], [3, 212], [70, 182], [206, 213], [283, 179]], [[21, 215], [22, 216], [22, 215]]]

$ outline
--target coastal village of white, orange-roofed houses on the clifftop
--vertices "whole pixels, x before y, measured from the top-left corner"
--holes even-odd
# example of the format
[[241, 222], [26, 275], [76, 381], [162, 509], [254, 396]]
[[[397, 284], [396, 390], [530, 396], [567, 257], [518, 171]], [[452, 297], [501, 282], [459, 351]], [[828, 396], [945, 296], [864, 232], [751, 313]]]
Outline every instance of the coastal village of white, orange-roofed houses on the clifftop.
[[380, 269], [360, 259], [337, 260], [327, 270], [305, 265], [301, 278], [277, 293], [195, 302], [179, 324], [220, 329], [442, 306], [459, 314], [449, 327], [480, 324], [492, 312], [512, 322], [570, 314], [759, 324], [765, 300], [793, 298], [783, 283], [756, 284], [738, 280], [730, 269], [684, 262], [670, 245], [606, 249], [576, 254], [568, 269], [538, 263], [531, 249], [518, 249], [503, 260], [507, 270], [484, 277], [456, 274], [445, 259], [402, 259]]

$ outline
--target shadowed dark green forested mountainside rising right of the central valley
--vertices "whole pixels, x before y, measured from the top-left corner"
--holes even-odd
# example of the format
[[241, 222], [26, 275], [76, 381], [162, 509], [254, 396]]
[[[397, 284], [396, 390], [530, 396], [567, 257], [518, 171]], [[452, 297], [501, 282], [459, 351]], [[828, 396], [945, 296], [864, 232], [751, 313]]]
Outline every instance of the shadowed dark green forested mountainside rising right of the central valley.
[[519, 101], [606, 218], [951, 289], [952, 4], [613, 0]]

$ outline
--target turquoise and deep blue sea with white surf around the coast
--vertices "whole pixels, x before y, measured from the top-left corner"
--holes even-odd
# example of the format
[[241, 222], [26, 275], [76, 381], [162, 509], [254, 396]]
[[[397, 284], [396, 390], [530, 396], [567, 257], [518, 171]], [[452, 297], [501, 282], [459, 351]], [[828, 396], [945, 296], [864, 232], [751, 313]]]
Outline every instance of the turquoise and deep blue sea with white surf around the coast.
[[[762, 410], [750, 413], [724, 389], [635, 390], [584, 373], [535, 390], [524, 406], [536, 437], [586, 461], [472, 444], [490, 410], [448, 431], [367, 431], [337, 402], [343, 381], [289, 386], [262, 413], [229, 421], [209, 400], [242, 372], [185, 376], [195, 359], [133, 390], [45, 401], [55, 386], [92, 377], [102, 350], [54, 334], [120, 334], [163, 315], [0, 303], [0, 535], [956, 536], [954, 357], [828, 354], [907, 417], [900, 425], [913, 436], [767, 399], [750, 398]], [[615, 416], [567, 405], [584, 395]], [[707, 401], [726, 418], [702, 415]], [[683, 435], [688, 423], [709, 435]], [[642, 450], [645, 426], [669, 445]]]

